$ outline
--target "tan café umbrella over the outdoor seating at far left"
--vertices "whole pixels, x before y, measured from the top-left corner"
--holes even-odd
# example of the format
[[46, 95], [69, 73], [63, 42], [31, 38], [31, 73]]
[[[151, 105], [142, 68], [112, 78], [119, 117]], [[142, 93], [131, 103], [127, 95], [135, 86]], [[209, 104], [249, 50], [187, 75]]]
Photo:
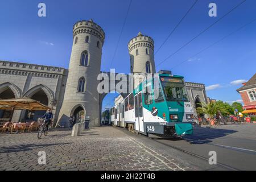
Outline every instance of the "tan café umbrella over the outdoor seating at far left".
[[48, 110], [50, 107], [31, 98], [11, 98], [0, 100], [0, 109], [11, 110], [10, 121], [13, 118], [14, 110]]

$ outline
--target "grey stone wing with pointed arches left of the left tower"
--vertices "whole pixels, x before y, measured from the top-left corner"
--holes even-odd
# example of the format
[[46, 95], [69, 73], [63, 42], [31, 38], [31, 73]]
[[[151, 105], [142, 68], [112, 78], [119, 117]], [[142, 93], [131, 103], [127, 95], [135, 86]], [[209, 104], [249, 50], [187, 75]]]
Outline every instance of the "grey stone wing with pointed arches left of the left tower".
[[[29, 97], [59, 113], [68, 70], [60, 67], [0, 61], [0, 98]], [[15, 110], [13, 121], [31, 121], [45, 111]], [[9, 110], [0, 110], [0, 118], [9, 118]], [[56, 120], [56, 117], [55, 117]]]

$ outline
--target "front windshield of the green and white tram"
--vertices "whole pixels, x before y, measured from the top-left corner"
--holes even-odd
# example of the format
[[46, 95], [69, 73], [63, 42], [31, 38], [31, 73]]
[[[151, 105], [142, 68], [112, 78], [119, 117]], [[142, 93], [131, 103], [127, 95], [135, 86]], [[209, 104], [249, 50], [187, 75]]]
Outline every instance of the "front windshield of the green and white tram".
[[160, 81], [167, 101], [188, 101], [183, 79], [160, 77]]

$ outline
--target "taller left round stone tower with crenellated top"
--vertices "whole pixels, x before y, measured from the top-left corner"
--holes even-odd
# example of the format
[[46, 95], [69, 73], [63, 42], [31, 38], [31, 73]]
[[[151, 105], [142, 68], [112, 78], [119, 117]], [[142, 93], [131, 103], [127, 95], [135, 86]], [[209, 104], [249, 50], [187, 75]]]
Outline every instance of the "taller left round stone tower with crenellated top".
[[67, 127], [68, 117], [73, 114], [76, 122], [89, 121], [90, 126], [100, 126], [97, 76], [104, 39], [103, 29], [92, 19], [73, 26], [73, 46], [59, 125]]

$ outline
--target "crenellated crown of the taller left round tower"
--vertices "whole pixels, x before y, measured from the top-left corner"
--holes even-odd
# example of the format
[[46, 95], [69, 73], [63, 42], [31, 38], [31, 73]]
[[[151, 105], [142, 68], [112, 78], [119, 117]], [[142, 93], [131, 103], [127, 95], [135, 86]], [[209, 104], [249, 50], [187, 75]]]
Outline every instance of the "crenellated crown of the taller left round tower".
[[73, 36], [80, 33], [88, 33], [98, 36], [104, 42], [105, 32], [97, 23], [94, 23], [92, 19], [81, 20], [76, 22], [73, 26]]

